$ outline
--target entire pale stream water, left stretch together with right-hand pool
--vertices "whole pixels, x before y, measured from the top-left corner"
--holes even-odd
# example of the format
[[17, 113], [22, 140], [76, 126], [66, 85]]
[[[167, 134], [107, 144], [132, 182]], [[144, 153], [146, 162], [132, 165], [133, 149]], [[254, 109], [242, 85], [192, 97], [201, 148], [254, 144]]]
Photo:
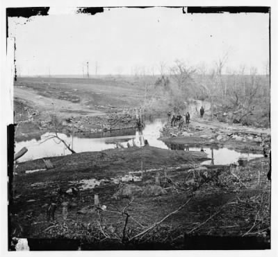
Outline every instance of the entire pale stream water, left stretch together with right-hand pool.
[[[146, 121], [143, 130], [120, 130], [115, 132], [103, 132], [101, 134], [90, 134], [88, 137], [73, 138], [70, 135], [58, 134], [61, 139], [67, 143], [73, 145], [73, 149], [76, 152], [88, 152], [88, 151], [101, 151], [106, 149], [113, 149], [119, 147], [128, 148], [132, 146], [142, 147], [145, 145], [145, 141], [151, 146], [162, 149], [171, 150], [185, 150], [185, 151], [197, 151], [206, 152], [210, 161], [205, 161], [206, 164], [228, 164], [238, 161], [239, 157], [247, 157], [249, 159], [254, 157], [261, 157], [262, 154], [242, 154], [235, 150], [229, 150], [227, 148], [205, 148], [203, 146], [191, 147], [184, 144], [170, 144], [164, 143], [158, 140], [161, 136], [160, 130], [165, 125], [167, 119], [156, 118], [154, 121]], [[28, 149], [28, 152], [24, 154], [19, 161], [28, 161], [31, 159], [39, 159], [44, 157], [53, 157], [70, 154], [70, 151], [65, 148], [63, 143], [59, 143], [54, 139], [47, 140], [47, 137], [52, 133], [46, 133], [41, 136], [40, 140], [31, 139], [29, 141], [17, 142], [15, 144], [15, 152], [18, 152], [24, 146]], [[99, 137], [106, 135], [104, 137]], [[93, 137], [95, 136], [95, 137]], [[42, 143], [44, 141], [44, 143]]]

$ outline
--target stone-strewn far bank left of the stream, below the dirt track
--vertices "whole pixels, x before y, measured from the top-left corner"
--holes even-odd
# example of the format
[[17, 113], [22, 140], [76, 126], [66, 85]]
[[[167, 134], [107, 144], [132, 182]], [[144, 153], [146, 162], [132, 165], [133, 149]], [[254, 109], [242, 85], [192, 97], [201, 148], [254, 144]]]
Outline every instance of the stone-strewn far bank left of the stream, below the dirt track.
[[[54, 117], [57, 124], [54, 125]], [[59, 118], [56, 113], [42, 115], [39, 109], [34, 109], [24, 100], [15, 99], [15, 139], [24, 141], [40, 139], [45, 132], [60, 132], [78, 136], [93, 136], [96, 133], [129, 130], [138, 127], [133, 114], [101, 114], [100, 116], [70, 116]], [[93, 134], [92, 134], [93, 133]], [[97, 136], [97, 135], [96, 135]]]

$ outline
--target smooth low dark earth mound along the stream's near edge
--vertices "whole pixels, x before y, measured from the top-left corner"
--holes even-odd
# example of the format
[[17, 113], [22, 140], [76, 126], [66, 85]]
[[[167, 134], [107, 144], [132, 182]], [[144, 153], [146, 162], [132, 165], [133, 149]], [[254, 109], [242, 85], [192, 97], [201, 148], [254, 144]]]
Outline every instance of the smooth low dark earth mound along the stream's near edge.
[[[141, 170], [142, 168], [162, 168], [164, 166], [179, 166], [180, 164], [192, 164], [206, 161], [209, 158], [204, 152], [171, 151], [154, 148], [146, 145], [143, 148], [120, 148], [108, 149], [101, 152], [81, 152], [61, 157], [50, 157], [55, 168], [54, 172], [68, 172], [70, 174], [95, 169], [104, 169], [105, 172], [99, 176], [117, 174], [124, 175], [125, 172]], [[42, 159], [19, 163], [16, 172], [45, 168]], [[41, 173], [42, 175], [42, 173]]]

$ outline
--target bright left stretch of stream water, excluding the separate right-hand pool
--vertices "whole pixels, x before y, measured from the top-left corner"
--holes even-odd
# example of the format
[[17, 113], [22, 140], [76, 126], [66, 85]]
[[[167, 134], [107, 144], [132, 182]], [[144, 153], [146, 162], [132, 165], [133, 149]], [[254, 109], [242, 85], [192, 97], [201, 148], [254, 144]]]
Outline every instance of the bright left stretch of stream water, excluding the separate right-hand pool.
[[[119, 143], [124, 148], [127, 148], [128, 145], [141, 147], [145, 145], [145, 140], [147, 140], [149, 145], [167, 149], [165, 143], [158, 140], [160, 136], [159, 130], [163, 125], [165, 125], [163, 119], [155, 119], [152, 122], [146, 121], [143, 130], [115, 130], [112, 132], [91, 133], [86, 137], [78, 135], [73, 138], [70, 134], [58, 133], [58, 136], [67, 143], [73, 145], [73, 149], [76, 152], [95, 152], [113, 149], [117, 148]], [[42, 134], [39, 140], [31, 139], [28, 141], [17, 141], [15, 143], [15, 152], [18, 152], [24, 146], [28, 149], [28, 152], [26, 152], [19, 161], [71, 154], [71, 152], [65, 148], [65, 145], [59, 143], [57, 139], [47, 140], [47, 138], [53, 134], [54, 133], [49, 132]]]

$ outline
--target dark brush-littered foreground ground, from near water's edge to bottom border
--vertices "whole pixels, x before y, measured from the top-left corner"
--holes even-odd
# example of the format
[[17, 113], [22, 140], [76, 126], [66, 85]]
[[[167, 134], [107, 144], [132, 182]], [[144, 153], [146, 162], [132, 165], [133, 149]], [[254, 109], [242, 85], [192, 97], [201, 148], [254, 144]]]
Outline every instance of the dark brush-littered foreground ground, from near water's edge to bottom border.
[[[165, 163], [161, 163], [161, 159]], [[14, 180], [13, 236], [72, 238], [92, 245], [107, 241], [108, 245], [113, 242], [117, 247], [155, 242], [165, 243], [171, 249], [184, 247], [184, 233], [258, 236], [268, 248], [270, 182], [266, 174], [269, 159], [254, 159], [245, 167], [203, 166], [198, 169], [198, 163], [205, 159], [206, 154], [202, 152], [146, 146], [53, 157], [50, 160], [54, 169], [27, 174], [26, 170], [45, 168], [43, 161], [19, 163]], [[141, 161], [145, 172], [140, 172]], [[160, 186], [156, 186], [158, 173]], [[83, 190], [87, 179], [96, 179], [99, 184]], [[138, 191], [121, 195], [122, 186], [135, 186]], [[76, 188], [76, 194], [72, 187]], [[149, 191], [144, 193], [144, 190]], [[97, 207], [104, 210], [95, 207], [96, 194], [100, 202]], [[136, 236], [188, 200], [179, 212], [142, 236]], [[65, 202], [68, 203], [67, 217], [63, 217]], [[47, 220], [46, 209], [51, 203], [56, 204], [55, 218]], [[123, 239], [124, 208], [129, 221]]]

